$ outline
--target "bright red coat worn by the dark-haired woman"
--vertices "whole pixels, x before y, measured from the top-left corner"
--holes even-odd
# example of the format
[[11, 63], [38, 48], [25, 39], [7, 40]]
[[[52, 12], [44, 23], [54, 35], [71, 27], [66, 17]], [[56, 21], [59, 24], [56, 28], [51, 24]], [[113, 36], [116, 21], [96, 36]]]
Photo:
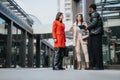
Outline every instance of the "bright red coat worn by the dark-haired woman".
[[52, 25], [52, 37], [57, 39], [54, 42], [54, 47], [65, 47], [66, 37], [65, 37], [65, 24], [60, 21], [55, 20]]

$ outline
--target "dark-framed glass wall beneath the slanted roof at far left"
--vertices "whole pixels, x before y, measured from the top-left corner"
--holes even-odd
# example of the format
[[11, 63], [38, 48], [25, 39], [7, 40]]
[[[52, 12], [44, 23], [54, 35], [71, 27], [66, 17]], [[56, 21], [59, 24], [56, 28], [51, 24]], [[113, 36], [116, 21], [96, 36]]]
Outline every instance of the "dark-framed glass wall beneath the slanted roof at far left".
[[20, 26], [0, 17], [0, 67], [29, 67], [28, 63], [32, 64], [32, 59], [28, 60], [33, 54], [32, 38], [28, 37], [32, 36]]

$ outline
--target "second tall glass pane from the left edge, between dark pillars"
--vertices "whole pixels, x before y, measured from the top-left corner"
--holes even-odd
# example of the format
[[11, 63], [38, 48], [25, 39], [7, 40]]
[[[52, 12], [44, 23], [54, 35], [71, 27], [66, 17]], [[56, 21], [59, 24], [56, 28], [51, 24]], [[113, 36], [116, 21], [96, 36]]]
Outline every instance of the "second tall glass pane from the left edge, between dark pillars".
[[21, 42], [21, 30], [17, 28], [16, 25], [12, 27], [12, 65], [16, 67], [19, 65], [19, 55], [20, 55], [20, 42]]

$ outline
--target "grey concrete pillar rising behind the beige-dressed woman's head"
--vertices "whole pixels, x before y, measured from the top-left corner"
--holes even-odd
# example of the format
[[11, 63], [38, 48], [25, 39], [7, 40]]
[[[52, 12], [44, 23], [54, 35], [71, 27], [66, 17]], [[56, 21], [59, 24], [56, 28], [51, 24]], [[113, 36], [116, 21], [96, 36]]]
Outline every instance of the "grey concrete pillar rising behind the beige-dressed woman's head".
[[75, 15], [77, 13], [82, 13], [84, 20], [89, 21], [88, 8], [89, 5], [94, 3], [94, 0], [72, 0], [72, 10], [73, 10], [73, 21], [75, 21]]

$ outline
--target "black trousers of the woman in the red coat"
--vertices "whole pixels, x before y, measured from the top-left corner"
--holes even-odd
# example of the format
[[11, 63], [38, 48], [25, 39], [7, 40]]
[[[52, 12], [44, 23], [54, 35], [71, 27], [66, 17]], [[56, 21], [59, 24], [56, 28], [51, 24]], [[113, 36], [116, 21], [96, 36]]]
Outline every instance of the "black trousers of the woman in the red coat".
[[53, 68], [62, 68], [65, 48], [55, 48], [53, 55]]

